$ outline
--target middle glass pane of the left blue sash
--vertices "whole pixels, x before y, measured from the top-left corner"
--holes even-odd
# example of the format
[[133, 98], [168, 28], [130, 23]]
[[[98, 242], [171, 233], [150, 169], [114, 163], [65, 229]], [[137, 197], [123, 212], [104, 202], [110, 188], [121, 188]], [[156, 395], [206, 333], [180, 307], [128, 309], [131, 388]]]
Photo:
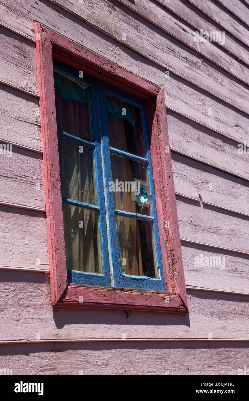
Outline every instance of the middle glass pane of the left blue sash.
[[62, 196], [97, 205], [92, 148], [58, 136]]

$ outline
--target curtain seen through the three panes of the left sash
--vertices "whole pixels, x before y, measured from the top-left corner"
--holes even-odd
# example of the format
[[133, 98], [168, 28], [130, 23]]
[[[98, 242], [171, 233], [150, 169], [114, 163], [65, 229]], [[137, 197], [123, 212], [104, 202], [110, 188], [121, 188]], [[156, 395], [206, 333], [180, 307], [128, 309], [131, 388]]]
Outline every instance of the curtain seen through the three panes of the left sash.
[[[54, 73], [56, 120], [60, 130], [91, 140], [89, 89]], [[71, 97], [71, 98], [70, 98]], [[96, 205], [92, 149], [58, 136], [62, 196]], [[102, 273], [98, 212], [63, 203], [68, 270]], [[82, 222], [82, 223], [81, 223]]]

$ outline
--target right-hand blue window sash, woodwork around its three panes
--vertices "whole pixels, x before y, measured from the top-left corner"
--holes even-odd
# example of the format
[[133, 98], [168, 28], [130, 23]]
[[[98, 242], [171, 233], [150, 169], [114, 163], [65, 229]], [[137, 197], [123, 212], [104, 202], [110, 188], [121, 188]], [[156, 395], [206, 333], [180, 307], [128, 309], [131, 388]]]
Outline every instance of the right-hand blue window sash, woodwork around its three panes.
[[[149, 137], [147, 132], [147, 121], [145, 113], [145, 102], [141, 99], [135, 98], [120, 89], [116, 89], [109, 84], [103, 83], [102, 81], [97, 82], [98, 91], [98, 101], [100, 110], [100, 121], [102, 130], [102, 153], [104, 158], [104, 181], [105, 181], [105, 192], [106, 192], [106, 203], [108, 209], [108, 219], [109, 219], [109, 237], [110, 237], [110, 247], [112, 254], [112, 269], [114, 286], [118, 288], [137, 288], [137, 289], [149, 289], [149, 290], [163, 290], [165, 291], [165, 282], [163, 276], [163, 265], [161, 258], [161, 248], [159, 240], [159, 230], [157, 223], [157, 212], [155, 206], [155, 190], [154, 181], [152, 173], [151, 155], [149, 150]], [[127, 103], [131, 103], [141, 109], [142, 125], [143, 125], [143, 135], [145, 140], [145, 154], [146, 158], [142, 158], [133, 154], [129, 154], [122, 150], [118, 150], [110, 147], [109, 143], [109, 130], [108, 130], [108, 119], [106, 111], [106, 94], [121, 99]], [[109, 182], [112, 181], [112, 166], [111, 166], [111, 154], [117, 154], [118, 156], [128, 157], [137, 162], [147, 165], [149, 188], [150, 188], [150, 198], [151, 198], [151, 211], [152, 217], [145, 215], [138, 215], [135, 213], [129, 213], [125, 211], [118, 211], [115, 209], [114, 203], [114, 193], [109, 191]], [[118, 231], [116, 225], [116, 215], [122, 215], [125, 217], [141, 219], [152, 221], [153, 232], [154, 232], [154, 242], [155, 242], [155, 252], [156, 252], [156, 262], [159, 269], [159, 279], [150, 278], [147, 276], [133, 276], [126, 275], [121, 272], [120, 266], [120, 254], [118, 249]]]

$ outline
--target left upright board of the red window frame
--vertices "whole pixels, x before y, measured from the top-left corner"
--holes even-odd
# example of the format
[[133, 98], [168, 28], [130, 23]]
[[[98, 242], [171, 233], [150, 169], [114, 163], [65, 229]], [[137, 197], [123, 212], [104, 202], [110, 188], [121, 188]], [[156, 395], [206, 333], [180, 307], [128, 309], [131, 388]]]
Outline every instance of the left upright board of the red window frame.
[[40, 93], [42, 144], [44, 148], [44, 189], [48, 235], [48, 260], [50, 268], [51, 297], [55, 304], [68, 284], [62, 214], [62, 190], [54, 98], [54, 73], [52, 45], [40, 24], [34, 23], [36, 61]]

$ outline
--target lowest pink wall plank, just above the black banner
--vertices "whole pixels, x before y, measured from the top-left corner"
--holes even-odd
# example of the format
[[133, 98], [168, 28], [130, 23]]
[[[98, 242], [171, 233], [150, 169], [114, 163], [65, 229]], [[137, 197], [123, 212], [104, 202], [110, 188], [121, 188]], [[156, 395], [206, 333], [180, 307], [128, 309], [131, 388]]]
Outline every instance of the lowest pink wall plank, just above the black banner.
[[243, 342], [214, 340], [0, 346], [0, 366], [13, 375], [237, 375], [248, 356]]

